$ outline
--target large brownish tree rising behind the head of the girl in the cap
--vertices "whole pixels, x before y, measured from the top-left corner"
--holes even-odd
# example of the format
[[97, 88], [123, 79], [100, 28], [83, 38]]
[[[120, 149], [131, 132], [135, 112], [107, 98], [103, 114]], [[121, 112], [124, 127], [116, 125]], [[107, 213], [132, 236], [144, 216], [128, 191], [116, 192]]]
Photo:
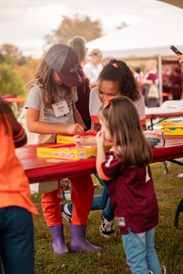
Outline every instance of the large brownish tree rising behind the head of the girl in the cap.
[[102, 29], [99, 20], [91, 21], [87, 15], [75, 14], [73, 18], [63, 16], [58, 29], [45, 36], [45, 40], [46, 45], [66, 44], [73, 36], [82, 36], [86, 41], [90, 41], [101, 35]]

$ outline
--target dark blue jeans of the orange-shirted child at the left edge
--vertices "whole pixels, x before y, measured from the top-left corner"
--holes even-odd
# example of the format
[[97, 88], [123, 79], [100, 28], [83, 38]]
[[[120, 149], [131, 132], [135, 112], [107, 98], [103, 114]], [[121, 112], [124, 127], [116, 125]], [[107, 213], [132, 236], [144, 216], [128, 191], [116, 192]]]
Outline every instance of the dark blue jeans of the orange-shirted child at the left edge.
[[34, 274], [34, 227], [24, 208], [0, 208], [0, 273]]

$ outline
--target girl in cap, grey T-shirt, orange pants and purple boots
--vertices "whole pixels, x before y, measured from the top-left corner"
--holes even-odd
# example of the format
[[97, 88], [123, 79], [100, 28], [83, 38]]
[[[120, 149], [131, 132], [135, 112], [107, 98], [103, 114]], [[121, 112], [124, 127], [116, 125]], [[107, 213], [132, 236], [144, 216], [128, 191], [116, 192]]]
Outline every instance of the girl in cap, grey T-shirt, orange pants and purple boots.
[[[75, 107], [77, 92], [73, 88], [82, 84], [77, 72], [77, 53], [67, 45], [53, 45], [40, 62], [33, 82], [29, 82], [26, 102], [27, 127], [37, 134], [83, 134], [84, 123]], [[34, 83], [34, 84], [32, 84]], [[36, 83], [36, 84], [35, 84]], [[39, 121], [40, 107], [44, 101], [44, 121]], [[93, 203], [94, 186], [90, 175], [71, 180], [73, 216], [71, 250], [99, 252], [100, 247], [86, 240], [86, 225], [90, 206]], [[53, 238], [53, 253], [69, 253], [64, 242], [64, 225], [60, 212], [62, 201], [60, 184], [57, 190], [42, 195], [42, 212]]]

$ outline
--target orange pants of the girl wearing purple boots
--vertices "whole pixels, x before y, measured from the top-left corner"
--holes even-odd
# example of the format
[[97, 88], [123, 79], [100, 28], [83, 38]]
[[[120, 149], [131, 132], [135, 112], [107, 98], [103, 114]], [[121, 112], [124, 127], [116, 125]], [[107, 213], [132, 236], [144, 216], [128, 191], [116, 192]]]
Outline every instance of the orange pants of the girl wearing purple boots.
[[[87, 225], [93, 195], [94, 186], [90, 175], [71, 179], [71, 200], [73, 201], [71, 223], [73, 225]], [[62, 225], [61, 201], [60, 184], [58, 190], [42, 195], [42, 212], [48, 226]]]

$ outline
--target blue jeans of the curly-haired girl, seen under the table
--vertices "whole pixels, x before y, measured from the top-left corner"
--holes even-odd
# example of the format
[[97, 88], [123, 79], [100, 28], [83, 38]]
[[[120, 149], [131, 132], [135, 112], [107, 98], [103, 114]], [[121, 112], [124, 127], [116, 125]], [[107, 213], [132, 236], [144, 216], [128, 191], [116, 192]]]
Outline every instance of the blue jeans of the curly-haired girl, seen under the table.
[[[96, 174], [97, 176], [97, 174]], [[98, 176], [97, 178], [103, 185], [103, 189], [101, 191], [101, 195], [95, 195], [93, 197], [93, 204], [91, 206], [91, 210], [103, 210], [102, 216], [103, 218], [111, 221], [114, 219], [114, 211], [112, 209], [112, 205], [110, 203], [110, 197], [108, 195], [108, 188], [106, 186], [106, 181], [100, 179]], [[68, 203], [67, 208], [69, 212], [73, 212], [73, 203]]]

